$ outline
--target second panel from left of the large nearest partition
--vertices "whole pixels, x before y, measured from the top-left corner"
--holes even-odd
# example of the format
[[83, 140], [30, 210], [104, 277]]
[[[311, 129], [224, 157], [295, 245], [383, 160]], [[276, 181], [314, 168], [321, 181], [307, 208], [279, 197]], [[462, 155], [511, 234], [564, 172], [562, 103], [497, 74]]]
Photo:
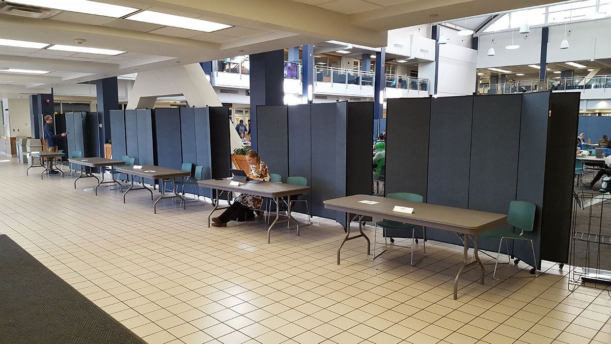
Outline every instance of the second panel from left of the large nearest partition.
[[[431, 103], [426, 200], [468, 208], [473, 97], [439, 97]], [[426, 237], [461, 244], [455, 233], [427, 228]]]

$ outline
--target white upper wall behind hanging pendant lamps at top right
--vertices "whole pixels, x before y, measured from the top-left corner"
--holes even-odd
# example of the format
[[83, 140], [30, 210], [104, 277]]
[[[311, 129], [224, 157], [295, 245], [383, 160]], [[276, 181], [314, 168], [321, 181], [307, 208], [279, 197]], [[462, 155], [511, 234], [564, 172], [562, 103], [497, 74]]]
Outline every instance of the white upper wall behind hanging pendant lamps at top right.
[[[569, 23], [566, 29], [569, 48], [561, 50], [560, 42], [565, 38], [565, 25], [549, 27], [548, 63], [611, 58], [611, 18]], [[515, 31], [514, 43], [520, 45], [516, 50], [505, 49], [505, 45], [511, 44], [511, 32], [482, 34], [477, 67], [538, 64], [541, 56], [541, 31], [541, 28], [531, 28], [530, 33], [526, 35]], [[492, 44], [496, 56], [486, 56], [491, 46], [491, 37], [496, 42]]]

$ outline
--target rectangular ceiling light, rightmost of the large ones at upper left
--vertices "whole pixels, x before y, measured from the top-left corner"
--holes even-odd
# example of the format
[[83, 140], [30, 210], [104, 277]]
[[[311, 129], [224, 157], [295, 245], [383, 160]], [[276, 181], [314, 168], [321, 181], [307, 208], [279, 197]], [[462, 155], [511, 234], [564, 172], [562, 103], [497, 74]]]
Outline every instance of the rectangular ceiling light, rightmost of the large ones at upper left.
[[130, 17], [127, 17], [125, 19], [203, 32], [219, 31], [232, 27], [231, 25], [215, 23], [214, 21], [181, 17], [180, 15], [172, 15], [153, 11], [142, 11], [134, 15], [130, 15]]

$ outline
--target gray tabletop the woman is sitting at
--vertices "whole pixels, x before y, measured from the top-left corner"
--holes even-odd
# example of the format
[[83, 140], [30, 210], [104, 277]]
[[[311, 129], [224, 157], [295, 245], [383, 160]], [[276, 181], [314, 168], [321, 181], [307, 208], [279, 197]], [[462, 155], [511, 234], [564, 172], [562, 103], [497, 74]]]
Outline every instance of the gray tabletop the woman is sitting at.
[[247, 183], [240, 182], [240, 186], [229, 185], [232, 182], [230, 179], [222, 179], [220, 181], [216, 179], [208, 179], [205, 181], [198, 181], [202, 187], [210, 187], [212, 189], [220, 189], [227, 190], [233, 192], [244, 192], [249, 193], [250, 195], [262, 196], [262, 197], [284, 197], [290, 195], [301, 195], [302, 193], [307, 193], [310, 190], [309, 186], [302, 185], [292, 185], [292, 184], [284, 184], [284, 183], [273, 183], [273, 182], [263, 182], [263, 183]]

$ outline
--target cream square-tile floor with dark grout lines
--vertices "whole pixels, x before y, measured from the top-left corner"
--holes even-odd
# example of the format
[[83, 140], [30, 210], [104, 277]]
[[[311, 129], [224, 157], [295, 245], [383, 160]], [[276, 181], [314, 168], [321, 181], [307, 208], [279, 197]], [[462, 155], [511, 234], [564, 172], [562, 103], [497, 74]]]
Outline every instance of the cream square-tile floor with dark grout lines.
[[[26, 176], [8, 160], [0, 233], [151, 344], [611, 343], [611, 297], [570, 293], [567, 266], [502, 282], [486, 266], [486, 284], [467, 272], [455, 301], [460, 247], [428, 241], [409, 266], [409, 250], [371, 261], [357, 239], [337, 265], [344, 232], [332, 220], [313, 219], [299, 237], [274, 229], [266, 244], [262, 221], [207, 228], [210, 204], [165, 201], [155, 215], [147, 192], [123, 204], [117, 191], [85, 189], [92, 179], [74, 189], [74, 178], [41, 181], [40, 169]], [[525, 264], [501, 273], [530, 276]]]

